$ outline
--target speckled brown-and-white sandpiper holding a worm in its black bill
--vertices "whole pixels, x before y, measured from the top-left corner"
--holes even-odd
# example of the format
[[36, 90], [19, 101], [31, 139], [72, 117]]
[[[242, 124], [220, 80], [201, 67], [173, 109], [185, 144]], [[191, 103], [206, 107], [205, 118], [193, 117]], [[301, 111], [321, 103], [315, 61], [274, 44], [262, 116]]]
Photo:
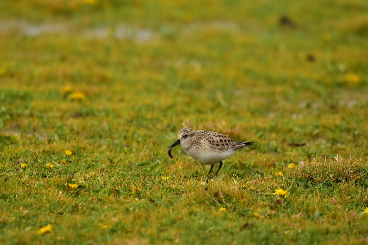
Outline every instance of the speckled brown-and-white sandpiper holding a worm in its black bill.
[[[195, 161], [211, 165], [207, 177], [211, 173], [213, 166], [220, 163], [214, 176], [219, 173], [222, 167], [222, 160], [228, 158], [235, 153], [235, 150], [251, 145], [254, 142], [243, 142], [232, 140], [226, 135], [205, 131], [193, 130], [189, 127], [182, 129], [178, 133], [178, 140], [169, 147], [169, 156], [171, 149], [177, 145], [181, 145], [184, 151], [187, 152]], [[213, 176], [213, 177], [214, 177]]]

